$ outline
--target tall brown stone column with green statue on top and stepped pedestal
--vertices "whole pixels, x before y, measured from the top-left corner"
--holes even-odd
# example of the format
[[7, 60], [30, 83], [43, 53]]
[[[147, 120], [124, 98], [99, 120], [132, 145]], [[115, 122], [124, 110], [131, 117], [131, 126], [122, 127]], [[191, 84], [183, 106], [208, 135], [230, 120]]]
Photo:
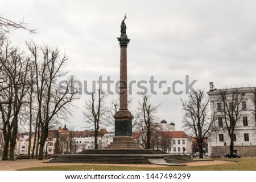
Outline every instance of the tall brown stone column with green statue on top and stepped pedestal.
[[115, 137], [113, 142], [108, 145], [108, 149], [140, 148], [132, 137], [133, 115], [127, 109], [127, 45], [130, 39], [126, 35], [125, 19], [121, 23], [121, 36], [117, 38], [120, 45], [119, 111], [113, 116], [115, 118]]

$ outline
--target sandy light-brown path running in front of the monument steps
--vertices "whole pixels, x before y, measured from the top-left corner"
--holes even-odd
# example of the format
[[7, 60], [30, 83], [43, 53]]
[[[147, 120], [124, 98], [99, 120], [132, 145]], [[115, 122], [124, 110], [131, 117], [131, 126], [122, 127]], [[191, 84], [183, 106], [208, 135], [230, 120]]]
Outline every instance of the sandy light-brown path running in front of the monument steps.
[[[198, 161], [184, 163], [187, 166], [204, 166], [204, 165], [217, 165], [217, 164], [228, 164], [230, 162], [224, 160], [214, 161]], [[103, 165], [103, 166], [137, 166], [137, 167], [168, 167], [155, 164], [74, 164], [74, 163], [44, 163], [42, 160], [36, 159], [22, 159], [15, 161], [2, 161], [0, 160], [0, 171], [15, 171], [28, 167], [42, 167], [42, 166], [68, 166], [68, 165]]]

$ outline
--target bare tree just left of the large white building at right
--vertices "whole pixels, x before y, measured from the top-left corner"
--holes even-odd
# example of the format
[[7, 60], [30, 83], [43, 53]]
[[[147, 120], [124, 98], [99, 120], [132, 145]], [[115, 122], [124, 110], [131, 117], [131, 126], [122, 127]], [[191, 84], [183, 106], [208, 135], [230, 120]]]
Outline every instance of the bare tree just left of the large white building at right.
[[188, 100], [181, 99], [184, 117], [183, 128], [195, 134], [199, 147], [199, 157], [203, 158], [203, 142], [207, 136], [214, 116], [208, 114], [209, 97], [203, 90], [191, 91]]

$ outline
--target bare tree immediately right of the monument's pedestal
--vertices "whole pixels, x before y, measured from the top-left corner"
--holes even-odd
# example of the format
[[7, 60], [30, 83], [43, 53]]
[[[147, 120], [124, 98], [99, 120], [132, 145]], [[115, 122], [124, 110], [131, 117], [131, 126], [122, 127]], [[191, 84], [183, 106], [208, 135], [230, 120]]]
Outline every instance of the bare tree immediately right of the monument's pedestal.
[[151, 149], [151, 139], [152, 133], [158, 125], [155, 124], [155, 113], [157, 112], [159, 105], [152, 105], [150, 103], [150, 96], [143, 95], [142, 101], [139, 101], [138, 107], [138, 118], [139, 118], [139, 126], [142, 132], [142, 146], [144, 149]]

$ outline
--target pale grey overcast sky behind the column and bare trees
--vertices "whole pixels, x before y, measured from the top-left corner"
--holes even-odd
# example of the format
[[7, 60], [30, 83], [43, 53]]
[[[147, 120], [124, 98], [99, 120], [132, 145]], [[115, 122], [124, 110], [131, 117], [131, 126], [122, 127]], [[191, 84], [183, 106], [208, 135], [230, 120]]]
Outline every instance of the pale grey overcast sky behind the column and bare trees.
[[[58, 47], [69, 57], [67, 69], [79, 81], [119, 78], [120, 24], [126, 12], [128, 82], [156, 81], [185, 83], [197, 80], [195, 89], [256, 86], [256, 2], [255, 1], [10, 1], [1, 0], [1, 15], [7, 19], [24, 17], [30, 35], [17, 30], [10, 35], [14, 45], [36, 44]], [[149, 84], [146, 84], [149, 87]], [[164, 87], [165, 88], [165, 87]], [[88, 88], [89, 90], [89, 88]], [[180, 86], [177, 91], [185, 91]], [[152, 104], [162, 103], [159, 121], [174, 122], [182, 130], [180, 98], [185, 93], [163, 95], [156, 89]], [[131, 111], [141, 96], [134, 88]], [[77, 101], [71, 124], [81, 130], [87, 95]], [[118, 96], [109, 96], [117, 99]]]

